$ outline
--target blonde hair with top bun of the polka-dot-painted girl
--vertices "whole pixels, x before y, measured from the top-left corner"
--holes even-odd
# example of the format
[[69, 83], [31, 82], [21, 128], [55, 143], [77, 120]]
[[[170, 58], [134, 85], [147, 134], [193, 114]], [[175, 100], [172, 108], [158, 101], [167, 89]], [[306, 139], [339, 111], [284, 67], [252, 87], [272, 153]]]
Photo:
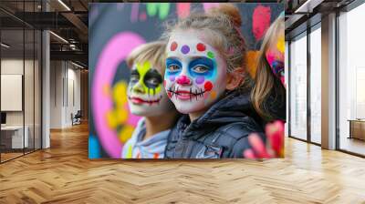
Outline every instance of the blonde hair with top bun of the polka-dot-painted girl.
[[192, 12], [174, 25], [168, 24], [162, 38], [168, 39], [177, 30], [204, 32], [208, 43], [226, 59], [227, 72], [233, 72], [237, 67], [245, 67], [246, 46], [239, 31], [241, 23], [239, 9], [233, 4], [225, 3], [206, 13]]

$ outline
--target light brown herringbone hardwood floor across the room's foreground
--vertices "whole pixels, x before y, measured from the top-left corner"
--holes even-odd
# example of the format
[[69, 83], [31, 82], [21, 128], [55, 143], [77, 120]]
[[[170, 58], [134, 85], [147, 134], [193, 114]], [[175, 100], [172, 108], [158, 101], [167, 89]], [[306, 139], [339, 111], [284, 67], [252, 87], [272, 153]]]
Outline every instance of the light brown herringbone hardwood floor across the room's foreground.
[[365, 159], [287, 138], [286, 158], [89, 160], [88, 127], [0, 165], [0, 203], [365, 203]]

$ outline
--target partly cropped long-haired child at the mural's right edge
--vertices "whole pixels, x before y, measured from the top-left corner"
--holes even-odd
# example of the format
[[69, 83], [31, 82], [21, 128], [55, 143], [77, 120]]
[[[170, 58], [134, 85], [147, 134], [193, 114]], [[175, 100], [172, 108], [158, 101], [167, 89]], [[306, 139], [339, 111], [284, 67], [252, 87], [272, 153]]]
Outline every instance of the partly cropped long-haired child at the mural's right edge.
[[[257, 57], [253, 105], [267, 120], [286, 119], [284, 12], [267, 29]], [[270, 114], [266, 114], [270, 113]]]

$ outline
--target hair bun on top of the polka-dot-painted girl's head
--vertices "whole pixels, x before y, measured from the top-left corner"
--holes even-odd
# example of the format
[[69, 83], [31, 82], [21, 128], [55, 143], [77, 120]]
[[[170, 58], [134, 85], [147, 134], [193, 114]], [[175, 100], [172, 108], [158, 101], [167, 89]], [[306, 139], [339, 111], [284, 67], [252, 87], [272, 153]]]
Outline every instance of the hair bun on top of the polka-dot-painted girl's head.
[[239, 27], [242, 24], [240, 11], [234, 4], [220, 3], [217, 7], [210, 8], [207, 11], [208, 15], [227, 15], [229, 20]]

